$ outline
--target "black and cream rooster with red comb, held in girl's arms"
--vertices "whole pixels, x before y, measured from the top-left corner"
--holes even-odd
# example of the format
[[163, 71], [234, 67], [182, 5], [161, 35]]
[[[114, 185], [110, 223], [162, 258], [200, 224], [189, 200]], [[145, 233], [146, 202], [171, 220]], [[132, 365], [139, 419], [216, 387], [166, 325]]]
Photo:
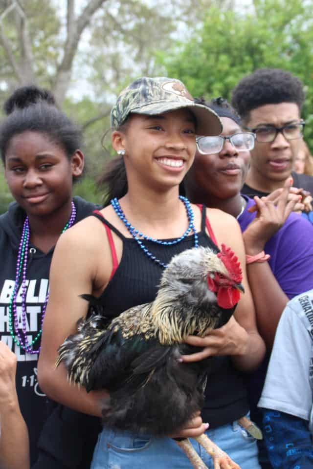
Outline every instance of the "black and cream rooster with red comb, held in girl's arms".
[[[156, 298], [112, 319], [97, 298], [89, 300], [78, 332], [59, 347], [70, 382], [87, 391], [108, 389], [102, 413], [107, 426], [155, 436], [175, 434], [204, 403], [210, 357], [185, 363], [196, 351], [184, 341], [204, 337], [231, 317], [240, 291], [238, 258], [222, 245], [188, 249], [174, 256], [163, 271]], [[198, 351], [199, 349], [197, 349]], [[205, 435], [197, 438], [214, 460], [215, 469], [240, 469]], [[194, 468], [206, 468], [189, 440], [176, 439]]]

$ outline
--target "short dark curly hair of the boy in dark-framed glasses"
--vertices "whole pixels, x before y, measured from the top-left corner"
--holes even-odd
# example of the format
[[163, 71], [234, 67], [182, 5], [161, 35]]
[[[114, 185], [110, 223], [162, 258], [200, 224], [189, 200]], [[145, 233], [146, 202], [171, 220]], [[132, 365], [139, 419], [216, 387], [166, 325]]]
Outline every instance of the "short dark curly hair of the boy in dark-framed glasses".
[[304, 98], [303, 84], [296, 76], [280, 68], [260, 68], [235, 86], [231, 104], [246, 122], [252, 109], [267, 104], [295, 103], [301, 110]]

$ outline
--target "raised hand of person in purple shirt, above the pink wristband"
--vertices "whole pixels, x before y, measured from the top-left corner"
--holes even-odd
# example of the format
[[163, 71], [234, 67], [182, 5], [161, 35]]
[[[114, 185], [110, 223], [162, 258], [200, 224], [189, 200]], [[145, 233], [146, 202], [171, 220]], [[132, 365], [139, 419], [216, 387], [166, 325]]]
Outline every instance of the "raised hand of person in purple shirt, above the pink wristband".
[[246, 254], [254, 256], [263, 251], [268, 239], [285, 223], [296, 203], [301, 200], [301, 195], [290, 193], [291, 183], [292, 178], [285, 182], [280, 194], [274, 191], [267, 197], [254, 197], [256, 205], [248, 211], [256, 211], [257, 214], [243, 233]]

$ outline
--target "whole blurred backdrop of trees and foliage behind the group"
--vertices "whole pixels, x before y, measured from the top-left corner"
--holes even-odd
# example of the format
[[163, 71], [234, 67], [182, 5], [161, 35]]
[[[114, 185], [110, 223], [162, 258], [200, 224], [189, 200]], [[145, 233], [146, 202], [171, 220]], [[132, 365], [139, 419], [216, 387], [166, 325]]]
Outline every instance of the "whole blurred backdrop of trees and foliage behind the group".
[[[75, 192], [90, 200], [100, 195], [94, 181], [110, 154], [109, 135], [104, 139], [109, 152], [101, 138], [110, 127], [112, 103], [140, 75], [177, 77], [195, 96], [229, 98], [238, 81], [257, 68], [290, 70], [306, 87], [305, 138], [313, 149], [313, 0], [242, 4], [0, 0], [0, 106], [31, 77], [57, 91], [65, 112], [84, 131], [87, 178]], [[0, 180], [0, 203], [7, 200]]]

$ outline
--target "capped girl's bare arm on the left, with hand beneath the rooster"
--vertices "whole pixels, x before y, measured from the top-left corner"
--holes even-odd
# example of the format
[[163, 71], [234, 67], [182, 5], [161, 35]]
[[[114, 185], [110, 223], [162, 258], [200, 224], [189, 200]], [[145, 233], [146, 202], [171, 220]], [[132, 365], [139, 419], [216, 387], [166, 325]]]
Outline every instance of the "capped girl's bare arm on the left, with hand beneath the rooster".
[[[106, 216], [110, 220], [110, 215]], [[89, 217], [64, 233], [57, 243], [51, 263], [50, 297], [38, 363], [40, 386], [50, 398], [80, 412], [99, 417], [101, 398], [106, 391], [87, 393], [85, 388], [69, 384], [65, 367], [61, 364], [56, 368], [55, 361], [58, 347], [67, 336], [76, 332], [77, 320], [87, 313], [88, 303], [80, 298], [81, 293], [92, 293], [98, 297], [109, 282], [112, 256], [108, 239], [103, 232], [99, 221], [95, 217]], [[114, 234], [113, 239], [120, 261], [122, 243]], [[98, 245], [101, 245], [101, 251], [97, 249]], [[77, 252], [80, 253], [79, 259]], [[199, 413], [185, 428], [179, 429], [172, 436], [197, 437], [207, 427], [207, 424], [202, 423]]]

